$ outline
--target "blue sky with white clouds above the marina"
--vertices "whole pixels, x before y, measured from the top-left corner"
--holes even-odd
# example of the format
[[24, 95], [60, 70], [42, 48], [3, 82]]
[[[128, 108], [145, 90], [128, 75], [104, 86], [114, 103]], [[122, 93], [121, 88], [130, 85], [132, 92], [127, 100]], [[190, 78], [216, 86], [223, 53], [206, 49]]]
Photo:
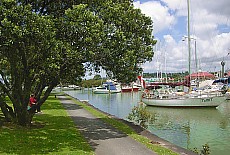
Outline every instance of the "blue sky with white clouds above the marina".
[[[151, 17], [158, 41], [144, 72], [188, 71], [187, 0], [134, 0], [134, 7]], [[220, 71], [221, 61], [230, 70], [229, 7], [230, 0], [190, 0], [191, 72]]]

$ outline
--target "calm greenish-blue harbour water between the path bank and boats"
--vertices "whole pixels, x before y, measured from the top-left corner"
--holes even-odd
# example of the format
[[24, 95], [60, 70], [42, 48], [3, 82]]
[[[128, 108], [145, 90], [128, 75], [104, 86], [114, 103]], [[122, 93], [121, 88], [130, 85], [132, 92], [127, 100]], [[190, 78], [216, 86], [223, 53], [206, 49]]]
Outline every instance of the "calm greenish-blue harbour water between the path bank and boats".
[[[141, 93], [93, 94], [90, 90], [65, 91], [79, 100], [88, 100], [94, 107], [127, 119], [140, 103]], [[230, 101], [218, 108], [160, 108], [147, 106], [154, 121], [148, 126], [153, 134], [186, 149], [202, 149], [208, 144], [211, 155], [230, 152]]]

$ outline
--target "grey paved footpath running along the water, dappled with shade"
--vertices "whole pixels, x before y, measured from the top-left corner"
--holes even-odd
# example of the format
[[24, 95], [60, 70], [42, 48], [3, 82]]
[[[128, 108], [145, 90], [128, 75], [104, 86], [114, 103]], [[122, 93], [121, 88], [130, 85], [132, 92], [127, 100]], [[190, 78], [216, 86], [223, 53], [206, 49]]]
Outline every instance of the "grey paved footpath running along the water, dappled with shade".
[[[143, 144], [96, 118], [65, 95], [57, 97], [96, 155], [156, 155]], [[156, 138], [154, 137], [154, 139]], [[184, 152], [185, 149], [180, 152], [181, 148], [179, 150], [176, 147], [171, 148], [179, 154], [187, 154]]]

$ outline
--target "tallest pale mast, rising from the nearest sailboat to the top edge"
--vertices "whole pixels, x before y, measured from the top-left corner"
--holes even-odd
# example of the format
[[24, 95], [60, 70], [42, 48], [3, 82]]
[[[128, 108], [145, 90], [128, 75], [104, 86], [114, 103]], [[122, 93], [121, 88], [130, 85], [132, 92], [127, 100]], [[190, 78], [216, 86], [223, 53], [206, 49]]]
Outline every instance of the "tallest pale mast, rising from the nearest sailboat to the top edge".
[[190, 37], [190, 1], [189, 0], [187, 0], [187, 5], [188, 5], [188, 73], [190, 75], [191, 74], [191, 37]]

